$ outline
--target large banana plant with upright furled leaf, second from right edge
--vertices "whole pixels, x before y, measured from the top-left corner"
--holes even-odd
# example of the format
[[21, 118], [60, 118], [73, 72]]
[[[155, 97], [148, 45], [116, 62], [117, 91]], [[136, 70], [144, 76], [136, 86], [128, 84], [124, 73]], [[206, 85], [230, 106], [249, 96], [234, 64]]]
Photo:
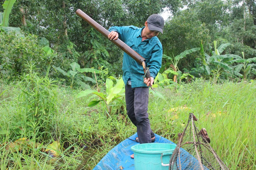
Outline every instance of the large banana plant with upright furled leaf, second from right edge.
[[220, 55], [230, 43], [221, 44], [218, 48], [217, 41], [213, 41], [213, 44], [214, 51], [211, 52], [212, 56], [210, 56], [204, 52], [203, 43], [201, 41], [200, 53], [203, 58], [203, 69], [206, 75], [211, 75], [211, 72], [213, 72], [215, 73], [214, 76], [216, 80], [222, 75], [233, 78], [242, 77], [242, 74], [231, 66], [232, 63], [238, 63], [242, 58], [234, 54]]

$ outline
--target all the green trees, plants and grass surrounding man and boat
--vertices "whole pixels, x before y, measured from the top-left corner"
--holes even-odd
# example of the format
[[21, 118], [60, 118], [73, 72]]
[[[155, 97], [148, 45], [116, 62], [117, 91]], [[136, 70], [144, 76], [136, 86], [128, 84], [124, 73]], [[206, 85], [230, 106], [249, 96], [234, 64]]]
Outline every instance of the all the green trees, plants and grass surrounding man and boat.
[[92, 169], [136, 132], [126, 116], [123, 52], [77, 9], [106, 29], [171, 13], [159, 35], [152, 129], [177, 142], [193, 112], [230, 169], [256, 168], [255, 0], [0, 4], [0, 169]]

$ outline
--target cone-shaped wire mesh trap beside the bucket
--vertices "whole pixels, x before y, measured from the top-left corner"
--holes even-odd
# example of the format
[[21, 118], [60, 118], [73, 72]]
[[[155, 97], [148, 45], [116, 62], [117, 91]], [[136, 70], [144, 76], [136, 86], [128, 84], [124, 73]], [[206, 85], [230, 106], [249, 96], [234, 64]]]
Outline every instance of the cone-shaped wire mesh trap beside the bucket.
[[228, 170], [210, 146], [206, 129], [199, 131], [195, 121], [196, 117], [189, 113], [186, 128], [178, 134], [179, 141], [170, 159], [169, 170]]

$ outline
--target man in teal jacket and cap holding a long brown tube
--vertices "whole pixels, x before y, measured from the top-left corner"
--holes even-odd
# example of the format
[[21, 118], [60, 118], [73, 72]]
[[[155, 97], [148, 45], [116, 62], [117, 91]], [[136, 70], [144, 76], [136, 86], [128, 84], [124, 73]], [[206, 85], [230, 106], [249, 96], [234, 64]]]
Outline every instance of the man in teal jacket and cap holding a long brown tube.
[[[159, 32], [163, 33], [164, 19], [153, 14], [148, 17], [145, 26], [113, 26], [109, 28], [108, 38], [117, 40], [118, 38], [134, 51], [146, 59], [146, 66], [149, 67], [150, 78], [144, 78], [143, 67], [132, 57], [124, 53], [123, 58], [123, 80], [125, 84], [125, 101], [127, 115], [132, 123], [137, 127], [137, 142], [140, 144], [155, 141], [155, 134], [150, 128], [148, 119], [148, 93], [149, 85], [153, 85], [162, 64], [163, 48], [156, 37]], [[134, 158], [134, 155], [131, 155]]]

